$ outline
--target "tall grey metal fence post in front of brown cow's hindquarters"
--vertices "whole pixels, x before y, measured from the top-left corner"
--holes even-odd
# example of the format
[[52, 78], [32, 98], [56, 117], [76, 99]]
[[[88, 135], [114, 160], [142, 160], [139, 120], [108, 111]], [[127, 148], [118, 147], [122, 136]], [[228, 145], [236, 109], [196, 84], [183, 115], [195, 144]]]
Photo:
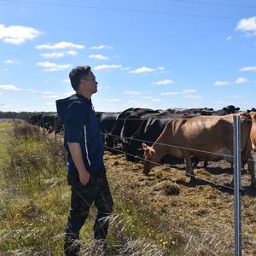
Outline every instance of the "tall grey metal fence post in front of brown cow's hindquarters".
[[235, 256], [241, 256], [241, 119], [233, 117]]

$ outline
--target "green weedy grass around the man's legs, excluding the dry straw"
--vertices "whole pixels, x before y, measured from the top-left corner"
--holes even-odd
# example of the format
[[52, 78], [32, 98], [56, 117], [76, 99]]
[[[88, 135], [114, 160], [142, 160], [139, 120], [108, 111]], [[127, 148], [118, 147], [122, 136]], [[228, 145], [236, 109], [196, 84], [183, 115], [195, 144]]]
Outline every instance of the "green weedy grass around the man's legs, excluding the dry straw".
[[[62, 142], [30, 125], [0, 123], [0, 131], [0, 255], [62, 255], [70, 201]], [[113, 200], [108, 255], [178, 252], [141, 198], [114, 190]], [[80, 233], [83, 255], [90, 255], [94, 211]]]

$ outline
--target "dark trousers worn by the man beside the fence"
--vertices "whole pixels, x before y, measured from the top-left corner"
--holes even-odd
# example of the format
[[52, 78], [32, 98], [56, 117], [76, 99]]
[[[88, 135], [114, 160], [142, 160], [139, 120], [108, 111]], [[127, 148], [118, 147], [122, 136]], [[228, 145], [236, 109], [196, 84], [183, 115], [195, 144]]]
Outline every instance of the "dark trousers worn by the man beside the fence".
[[94, 176], [90, 175], [90, 181], [85, 186], [80, 183], [79, 178], [67, 175], [67, 183], [71, 186], [71, 207], [67, 218], [64, 243], [64, 252], [67, 256], [79, 255], [79, 231], [88, 217], [93, 202], [96, 206], [94, 238], [105, 240], [107, 237], [113, 199], [106, 172], [97, 173]]

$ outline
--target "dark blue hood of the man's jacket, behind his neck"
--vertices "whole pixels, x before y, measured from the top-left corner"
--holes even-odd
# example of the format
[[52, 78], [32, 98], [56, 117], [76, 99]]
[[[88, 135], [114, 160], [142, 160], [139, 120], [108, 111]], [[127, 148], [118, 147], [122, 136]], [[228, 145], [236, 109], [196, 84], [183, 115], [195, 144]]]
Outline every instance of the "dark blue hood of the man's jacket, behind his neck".
[[91, 105], [91, 101], [79, 94], [73, 94], [64, 99], [60, 99], [56, 101], [56, 108], [59, 118], [61, 119], [61, 123], [65, 124], [67, 122], [68, 116], [68, 108], [73, 102], [86, 102]]

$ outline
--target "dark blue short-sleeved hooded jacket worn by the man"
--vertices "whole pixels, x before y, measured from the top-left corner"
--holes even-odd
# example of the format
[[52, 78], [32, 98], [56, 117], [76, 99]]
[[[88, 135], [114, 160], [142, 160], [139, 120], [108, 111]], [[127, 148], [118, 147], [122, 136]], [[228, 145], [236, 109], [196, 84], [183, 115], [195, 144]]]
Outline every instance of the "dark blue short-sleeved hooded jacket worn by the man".
[[74, 94], [56, 101], [57, 113], [64, 124], [64, 147], [67, 150], [67, 174], [78, 177], [67, 143], [79, 143], [84, 166], [90, 172], [102, 172], [103, 141], [96, 113], [91, 102], [82, 95]]

